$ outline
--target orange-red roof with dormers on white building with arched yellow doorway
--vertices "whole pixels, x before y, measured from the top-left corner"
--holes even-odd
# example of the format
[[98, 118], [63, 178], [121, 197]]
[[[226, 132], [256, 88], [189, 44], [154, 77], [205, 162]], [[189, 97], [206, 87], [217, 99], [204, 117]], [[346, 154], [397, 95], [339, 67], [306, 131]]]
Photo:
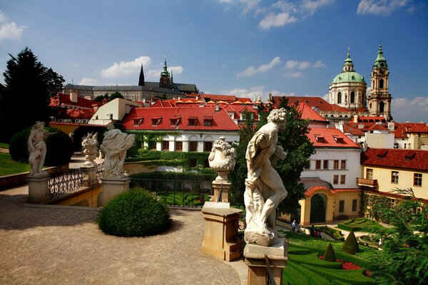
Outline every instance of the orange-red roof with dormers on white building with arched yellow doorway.
[[307, 138], [314, 147], [360, 148], [360, 145], [338, 129], [310, 128]]

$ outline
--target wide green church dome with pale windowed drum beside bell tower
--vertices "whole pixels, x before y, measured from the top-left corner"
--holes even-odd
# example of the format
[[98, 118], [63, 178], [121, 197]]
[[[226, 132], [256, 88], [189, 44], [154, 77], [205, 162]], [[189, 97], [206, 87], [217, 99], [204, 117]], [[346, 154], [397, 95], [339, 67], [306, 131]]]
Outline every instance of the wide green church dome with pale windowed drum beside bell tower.
[[364, 77], [354, 70], [354, 63], [352, 63], [348, 48], [342, 72], [333, 78], [329, 86], [330, 104], [337, 104], [352, 110], [365, 108], [366, 86]]

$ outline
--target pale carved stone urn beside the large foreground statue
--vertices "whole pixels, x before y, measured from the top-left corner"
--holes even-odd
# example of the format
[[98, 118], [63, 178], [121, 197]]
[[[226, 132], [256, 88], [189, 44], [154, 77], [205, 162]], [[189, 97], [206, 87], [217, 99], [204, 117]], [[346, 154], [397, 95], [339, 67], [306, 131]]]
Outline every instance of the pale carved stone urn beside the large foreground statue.
[[215, 180], [228, 180], [228, 172], [235, 167], [235, 158], [235, 148], [225, 141], [225, 137], [215, 140], [208, 156], [210, 167], [218, 173]]

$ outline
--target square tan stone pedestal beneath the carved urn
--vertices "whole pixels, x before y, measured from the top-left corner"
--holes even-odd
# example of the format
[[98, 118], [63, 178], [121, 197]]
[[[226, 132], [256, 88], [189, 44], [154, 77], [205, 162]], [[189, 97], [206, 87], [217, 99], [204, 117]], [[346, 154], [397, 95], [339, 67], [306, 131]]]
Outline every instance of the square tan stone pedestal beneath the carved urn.
[[[205, 230], [201, 253], [225, 261], [233, 261], [242, 257], [242, 245], [238, 239], [238, 222], [240, 209], [203, 207], [202, 214], [205, 219]], [[221, 206], [221, 205], [220, 205]]]

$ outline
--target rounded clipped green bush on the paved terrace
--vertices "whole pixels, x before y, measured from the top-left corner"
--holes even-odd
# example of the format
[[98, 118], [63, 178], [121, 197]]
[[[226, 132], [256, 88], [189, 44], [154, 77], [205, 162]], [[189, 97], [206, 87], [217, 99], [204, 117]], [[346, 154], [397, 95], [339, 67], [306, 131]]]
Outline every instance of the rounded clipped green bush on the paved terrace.
[[145, 237], [170, 227], [168, 209], [146, 190], [131, 188], [109, 200], [98, 214], [98, 227], [118, 237]]

